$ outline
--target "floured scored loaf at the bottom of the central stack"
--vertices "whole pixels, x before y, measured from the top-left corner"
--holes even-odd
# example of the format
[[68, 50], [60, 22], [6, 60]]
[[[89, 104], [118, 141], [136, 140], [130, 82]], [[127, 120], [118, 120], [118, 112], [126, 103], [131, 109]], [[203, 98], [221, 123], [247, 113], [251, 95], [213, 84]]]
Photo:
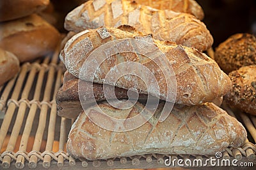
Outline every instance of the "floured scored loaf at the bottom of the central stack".
[[[143, 108], [140, 103], [126, 110], [115, 109], [106, 102], [99, 104], [99, 109], [105, 114], [118, 119], [132, 118]], [[159, 123], [161, 109], [163, 103], [159, 104], [154, 116], [139, 128], [112, 132], [95, 125], [86, 116], [99, 118], [102, 123], [113, 122], [100, 114], [97, 106], [90, 107], [86, 109], [86, 114], [81, 112], [72, 125], [67, 151], [75, 158], [88, 160], [147, 153], [208, 155], [224, 151], [228, 146], [242, 146], [246, 141], [243, 125], [214, 104], [193, 107], [175, 105], [168, 118]], [[116, 125], [113, 124], [113, 128]]]

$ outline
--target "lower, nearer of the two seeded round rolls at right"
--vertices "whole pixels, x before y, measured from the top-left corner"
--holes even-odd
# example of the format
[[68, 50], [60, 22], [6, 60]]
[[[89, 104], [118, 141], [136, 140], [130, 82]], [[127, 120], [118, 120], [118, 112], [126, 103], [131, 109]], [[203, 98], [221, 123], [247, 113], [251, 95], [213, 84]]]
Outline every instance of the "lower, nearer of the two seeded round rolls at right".
[[243, 66], [228, 76], [232, 90], [224, 100], [241, 111], [256, 115], [256, 65]]

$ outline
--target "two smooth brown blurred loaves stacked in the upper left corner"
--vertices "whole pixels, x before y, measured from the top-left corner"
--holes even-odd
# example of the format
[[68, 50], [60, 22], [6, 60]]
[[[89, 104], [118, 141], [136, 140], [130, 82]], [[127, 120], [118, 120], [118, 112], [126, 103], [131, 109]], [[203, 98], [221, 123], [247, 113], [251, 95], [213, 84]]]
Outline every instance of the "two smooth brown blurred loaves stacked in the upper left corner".
[[60, 33], [36, 13], [49, 0], [0, 2], [0, 47], [13, 52], [20, 62], [31, 61], [53, 52]]

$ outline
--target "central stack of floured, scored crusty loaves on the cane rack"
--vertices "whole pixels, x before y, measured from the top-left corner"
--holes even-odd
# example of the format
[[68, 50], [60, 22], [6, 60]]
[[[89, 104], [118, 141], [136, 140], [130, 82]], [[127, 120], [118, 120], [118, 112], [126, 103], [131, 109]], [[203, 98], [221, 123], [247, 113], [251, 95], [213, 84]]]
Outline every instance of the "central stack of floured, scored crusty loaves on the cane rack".
[[[212, 103], [231, 81], [202, 53], [212, 36], [193, 15], [95, 0], [68, 13], [65, 27], [77, 33], [61, 50], [67, 72], [56, 102], [60, 116], [76, 118], [67, 141], [73, 157], [207, 155], [246, 141], [243, 125]], [[160, 99], [154, 112], [150, 97]]]

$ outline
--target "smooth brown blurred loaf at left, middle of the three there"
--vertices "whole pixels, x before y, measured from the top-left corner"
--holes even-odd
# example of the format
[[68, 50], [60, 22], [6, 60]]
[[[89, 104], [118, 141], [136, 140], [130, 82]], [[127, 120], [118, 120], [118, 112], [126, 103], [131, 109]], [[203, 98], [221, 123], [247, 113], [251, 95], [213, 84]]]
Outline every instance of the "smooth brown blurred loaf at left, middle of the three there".
[[58, 30], [35, 14], [0, 24], [0, 47], [15, 54], [20, 62], [53, 52], [59, 42]]

